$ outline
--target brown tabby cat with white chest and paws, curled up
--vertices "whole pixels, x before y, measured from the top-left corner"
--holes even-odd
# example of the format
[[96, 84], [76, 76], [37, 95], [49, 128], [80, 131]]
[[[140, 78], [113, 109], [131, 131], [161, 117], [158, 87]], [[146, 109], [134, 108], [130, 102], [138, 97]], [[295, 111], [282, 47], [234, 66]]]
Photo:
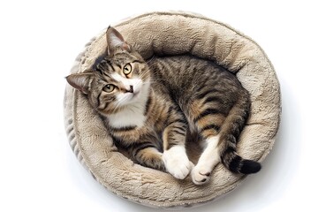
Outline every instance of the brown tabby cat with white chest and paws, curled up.
[[[107, 29], [106, 41], [91, 72], [66, 79], [87, 95], [115, 143], [135, 163], [178, 179], [190, 175], [196, 185], [206, 184], [220, 162], [234, 173], [261, 170], [260, 163], [236, 152], [251, 102], [233, 73], [187, 55], [146, 62], [114, 27]], [[186, 155], [191, 132], [205, 143], [195, 165]]]

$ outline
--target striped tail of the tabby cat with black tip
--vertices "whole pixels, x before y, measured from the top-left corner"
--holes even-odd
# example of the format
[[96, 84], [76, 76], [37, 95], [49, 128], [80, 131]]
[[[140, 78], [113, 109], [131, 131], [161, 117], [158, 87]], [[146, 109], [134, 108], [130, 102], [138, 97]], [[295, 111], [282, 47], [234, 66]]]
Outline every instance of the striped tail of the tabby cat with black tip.
[[218, 145], [221, 161], [234, 173], [252, 174], [261, 170], [261, 163], [243, 159], [236, 152], [239, 134], [246, 124], [250, 110], [250, 100], [247, 91], [241, 95], [238, 102], [230, 110], [220, 132]]

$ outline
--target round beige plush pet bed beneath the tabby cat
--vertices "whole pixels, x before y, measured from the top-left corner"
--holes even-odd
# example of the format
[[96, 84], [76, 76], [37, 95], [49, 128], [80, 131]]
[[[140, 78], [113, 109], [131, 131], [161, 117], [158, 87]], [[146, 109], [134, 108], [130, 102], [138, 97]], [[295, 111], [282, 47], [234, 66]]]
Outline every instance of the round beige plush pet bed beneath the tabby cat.
[[[264, 160], [273, 147], [279, 124], [280, 90], [272, 64], [253, 40], [220, 22], [184, 12], [143, 14], [112, 27], [145, 59], [190, 54], [236, 73], [252, 99], [251, 115], [240, 136], [238, 152], [248, 159]], [[87, 44], [72, 73], [89, 72], [106, 49], [105, 32], [106, 29]], [[208, 184], [195, 186], [190, 178], [178, 180], [133, 163], [114, 145], [86, 95], [69, 85], [64, 95], [64, 121], [79, 161], [102, 186], [130, 201], [155, 208], [186, 207], [211, 201], [245, 178], [218, 164]]]

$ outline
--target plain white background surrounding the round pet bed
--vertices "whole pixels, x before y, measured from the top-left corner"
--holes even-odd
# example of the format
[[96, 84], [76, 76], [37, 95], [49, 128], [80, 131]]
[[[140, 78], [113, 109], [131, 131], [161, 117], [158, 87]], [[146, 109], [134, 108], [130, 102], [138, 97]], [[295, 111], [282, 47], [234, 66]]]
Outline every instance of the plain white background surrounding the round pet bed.
[[198, 12], [253, 38], [274, 64], [283, 97], [276, 145], [261, 172], [188, 211], [317, 208], [314, 1], [6, 2], [0, 3], [0, 211], [159, 211], [118, 198], [78, 163], [64, 133], [64, 76], [104, 27], [169, 10]]

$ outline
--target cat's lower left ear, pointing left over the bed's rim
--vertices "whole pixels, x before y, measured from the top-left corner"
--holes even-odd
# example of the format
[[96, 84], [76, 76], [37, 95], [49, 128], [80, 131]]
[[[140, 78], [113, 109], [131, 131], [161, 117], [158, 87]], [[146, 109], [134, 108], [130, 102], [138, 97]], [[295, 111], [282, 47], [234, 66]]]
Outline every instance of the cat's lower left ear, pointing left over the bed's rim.
[[93, 73], [74, 73], [67, 76], [66, 80], [72, 87], [87, 95], [94, 77]]

